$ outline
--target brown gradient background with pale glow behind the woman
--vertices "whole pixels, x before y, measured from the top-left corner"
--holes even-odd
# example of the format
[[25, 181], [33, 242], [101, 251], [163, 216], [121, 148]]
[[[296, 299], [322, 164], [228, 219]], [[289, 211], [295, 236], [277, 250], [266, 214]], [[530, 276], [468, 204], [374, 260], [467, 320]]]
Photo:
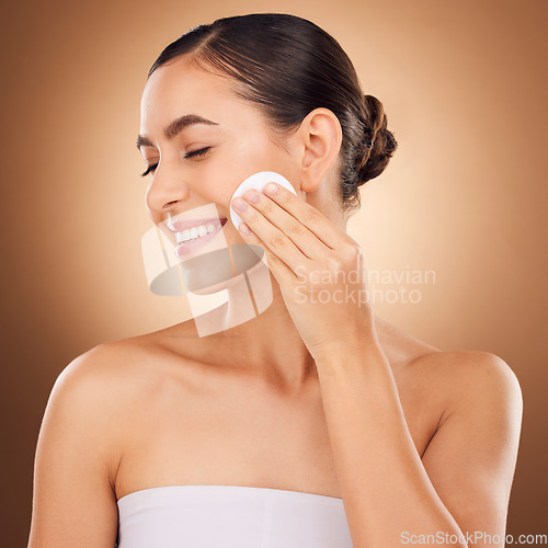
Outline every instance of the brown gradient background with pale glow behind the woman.
[[[53, 1], [2, 5], [2, 527], [27, 540], [53, 384], [104, 341], [189, 317], [147, 287], [146, 73], [199, 23], [289, 12], [331, 33], [399, 150], [351, 235], [369, 270], [434, 270], [421, 301], [377, 313], [441, 349], [492, 352], [524, 396], [507, 532], [548, 533], [545, 0]], [[414, 288], [416, 286], [406, 286]]]

